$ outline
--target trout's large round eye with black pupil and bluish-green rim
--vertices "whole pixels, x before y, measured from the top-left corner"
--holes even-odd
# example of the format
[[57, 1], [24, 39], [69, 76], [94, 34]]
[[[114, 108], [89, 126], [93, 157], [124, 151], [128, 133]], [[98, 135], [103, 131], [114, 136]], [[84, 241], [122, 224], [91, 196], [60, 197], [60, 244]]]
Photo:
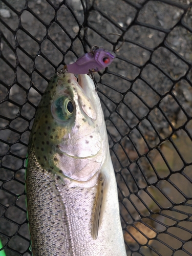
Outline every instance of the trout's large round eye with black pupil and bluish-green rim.
[[72, 118], [74, 105], [69, 95], [56, 98], [51, 105], [53, 117], [59, 121], [67, 121]]

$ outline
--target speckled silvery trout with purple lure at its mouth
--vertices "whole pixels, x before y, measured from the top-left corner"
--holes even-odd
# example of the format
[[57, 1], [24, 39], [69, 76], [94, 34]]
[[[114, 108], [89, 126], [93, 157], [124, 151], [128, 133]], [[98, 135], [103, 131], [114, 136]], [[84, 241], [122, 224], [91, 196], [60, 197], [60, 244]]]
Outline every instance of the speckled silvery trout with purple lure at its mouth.
[[33, 256], [125, 256], [114, 168], [93, 79], [58, 71], [40, 100], [26, 161]]

